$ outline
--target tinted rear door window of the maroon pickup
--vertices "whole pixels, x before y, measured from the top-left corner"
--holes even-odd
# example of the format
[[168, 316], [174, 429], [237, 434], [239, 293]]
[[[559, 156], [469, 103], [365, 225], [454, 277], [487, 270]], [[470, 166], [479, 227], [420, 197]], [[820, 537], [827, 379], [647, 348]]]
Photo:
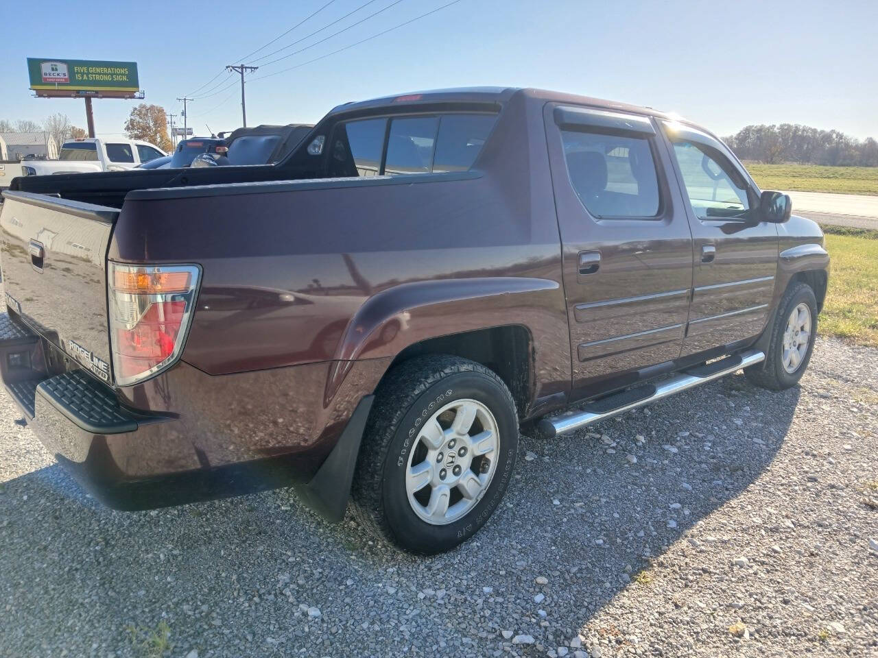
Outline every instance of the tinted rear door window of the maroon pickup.
[[595, 217], [655, 217], [659, 180], [649, 141], [562, 131], [573, 189]]

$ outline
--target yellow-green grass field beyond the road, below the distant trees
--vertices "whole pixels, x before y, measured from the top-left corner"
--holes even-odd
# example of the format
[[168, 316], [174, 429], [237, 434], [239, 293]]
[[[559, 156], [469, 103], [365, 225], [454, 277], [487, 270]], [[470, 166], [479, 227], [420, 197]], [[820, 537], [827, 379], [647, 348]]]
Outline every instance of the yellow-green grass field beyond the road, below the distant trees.
[[761, 162], [745, 162], [745, 166], [763, 190], [878, 195], [878, 167], [767, 165]]

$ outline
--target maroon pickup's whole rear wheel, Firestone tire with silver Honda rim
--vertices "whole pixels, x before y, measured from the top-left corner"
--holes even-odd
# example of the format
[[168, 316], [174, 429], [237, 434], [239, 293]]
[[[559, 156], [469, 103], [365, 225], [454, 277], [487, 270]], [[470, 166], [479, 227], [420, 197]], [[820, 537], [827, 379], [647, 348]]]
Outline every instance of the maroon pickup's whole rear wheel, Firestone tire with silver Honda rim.
[[500, 503], [518, 450], [518, 418], [492, 370], [455, 356], [395, 368], [377, 392], [353, 485], [371, 533], [417, 553], [469, 539]]

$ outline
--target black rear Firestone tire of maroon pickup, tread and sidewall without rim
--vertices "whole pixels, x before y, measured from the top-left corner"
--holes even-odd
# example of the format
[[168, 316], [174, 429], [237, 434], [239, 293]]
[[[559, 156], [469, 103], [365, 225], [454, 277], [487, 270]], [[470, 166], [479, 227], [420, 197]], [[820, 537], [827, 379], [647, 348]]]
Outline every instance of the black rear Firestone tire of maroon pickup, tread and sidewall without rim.
[[[471, 510], [447, 525], [433, 525], [409, 504], [409, 452], [417, 447], [421, 424], [445, 404], [460, 399], [476, 400], [493, 414], [499, 436], [497, 463]], [[353, 511], [365, 529], [379, 538], [415, 553], [441, 553], [485, 525], [506, 491], [517, 452], [515, 402], [496, 373], [474, 361], [443, 354], [405, 361], [376, 392], [356, 463]]]

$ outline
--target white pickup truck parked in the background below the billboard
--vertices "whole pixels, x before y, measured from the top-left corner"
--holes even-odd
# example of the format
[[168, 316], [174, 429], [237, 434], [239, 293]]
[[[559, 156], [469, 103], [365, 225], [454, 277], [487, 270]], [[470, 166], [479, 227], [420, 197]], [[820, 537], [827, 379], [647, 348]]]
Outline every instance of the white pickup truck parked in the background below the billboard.
[[125, 171], [164, 155], [161, 148], [139, 139], [70, 139], [61, 145], [58, 160], [26, 161], [21, 168], [23, 175]]

